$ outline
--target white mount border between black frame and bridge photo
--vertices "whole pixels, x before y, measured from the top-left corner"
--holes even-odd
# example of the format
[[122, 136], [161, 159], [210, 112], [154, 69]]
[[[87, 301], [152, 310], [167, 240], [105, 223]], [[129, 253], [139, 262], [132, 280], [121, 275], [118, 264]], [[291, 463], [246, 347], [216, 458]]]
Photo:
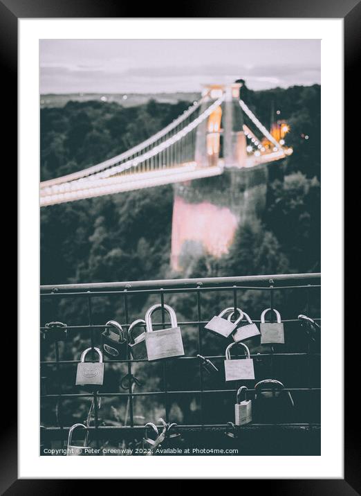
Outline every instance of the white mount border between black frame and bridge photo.
[[[39, 39], [120, 37], [322, 39], [320, 457], [39, 457]], [[342, 37], [343, 19], [19, 19], [20, 478], [343, 477]]]

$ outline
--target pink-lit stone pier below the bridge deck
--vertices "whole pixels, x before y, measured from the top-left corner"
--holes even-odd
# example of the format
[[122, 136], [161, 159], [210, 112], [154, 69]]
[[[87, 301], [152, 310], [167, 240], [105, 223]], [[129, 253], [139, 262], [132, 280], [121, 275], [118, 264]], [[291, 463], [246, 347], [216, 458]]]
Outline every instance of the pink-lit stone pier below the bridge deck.
[[187, 276], [203, 254], [228, 253], [237, 228], [266, 206], [267, 166], [225, 168], [223, 175], [174, 184], [171, 265]]

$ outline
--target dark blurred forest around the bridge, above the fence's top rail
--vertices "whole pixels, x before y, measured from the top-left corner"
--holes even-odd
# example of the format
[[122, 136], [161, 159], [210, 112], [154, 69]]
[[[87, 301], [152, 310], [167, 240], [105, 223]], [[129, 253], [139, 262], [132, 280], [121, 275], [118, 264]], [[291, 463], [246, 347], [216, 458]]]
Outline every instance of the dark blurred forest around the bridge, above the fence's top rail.
[[[290, 125], [293, 155], [270, 165], [267, 206], [241, 227], [227, 256], [204, 256], [194, 277], [320, 269], [320, 86], [252, 91], [242, 98], [266, 125], [271, 109]], [[69, 101], [41, 109], [41, 180], [82, 170], [147, 139], [181, 114], [149, 100], [122, 107]], [[277, 117], [277, 116], [275, 116]], [[307, 135], [308, 139], [304, 139]], [[41, 209], [41, 283], [92, 283], [170, 275], [172, 186]]]

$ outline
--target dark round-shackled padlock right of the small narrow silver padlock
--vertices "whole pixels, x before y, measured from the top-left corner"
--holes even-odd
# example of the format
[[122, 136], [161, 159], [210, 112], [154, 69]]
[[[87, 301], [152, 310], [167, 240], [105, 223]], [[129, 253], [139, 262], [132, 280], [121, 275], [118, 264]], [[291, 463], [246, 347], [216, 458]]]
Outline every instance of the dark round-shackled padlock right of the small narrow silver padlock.
[[290, 410], [295, 407], [290, 391], [276, 379], [265, 379], [254, 386], [254, 422], [282, 423], [289, 420]]

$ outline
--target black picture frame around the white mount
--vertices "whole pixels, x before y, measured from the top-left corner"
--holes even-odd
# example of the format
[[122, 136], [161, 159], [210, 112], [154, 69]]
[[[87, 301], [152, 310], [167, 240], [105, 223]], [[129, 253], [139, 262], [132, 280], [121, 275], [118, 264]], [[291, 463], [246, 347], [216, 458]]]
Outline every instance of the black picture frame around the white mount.
[[[173, 12], [161, 10], [157, 4], [142, 4], [141, 16], [133, 15], [139, 13], [139, 6], [134, 3], [120, 3], [113, 0], [0, 0], [0, 60], [3, 87], [3, 116], [6, 116], [6, 148], [17, 150], [17, 29], [18, 19], [26, 18], [71, 18], [71, 17], [214, 17], [214, 18], [339, 18], [344, 19], [344, 109], [345, 115], [351, 116], [358, 101], [358, 78], [357, 69], [360, 45], [361, 45], [361, 3], [360, 0], [225, 0], [212, 2], [182, 2], [174, 4]], [[162, 9], [165, 7], [162, 7]], [[137, 9], [137, 12], [136, 12]], [[177, 10], [177, 12], [176, 12]], [[355, 84], [356, 83], [356, 84]], [[345, 163], [351, 154], [354, 139], [354, 130], [351, 123], [345, 120]], [[10, 169], [15, 172], [13, 161]], [[348, 210], [345, 210], [348, 213]], [[346, 219], [348, 215], [345, 216]], [[15, 223], [14, 223], [15, 224]], [[347, 222], [345, 224], [347, 227]], [[22, 240], [24, 242], [24, 240]], [[15, 250], [14, 250], [15, 251]], [[14, 265], [15, 266], [15, 265]], [[347, 267], [346, 267], [347, 268]], [[347, 271], [346, 271], [347, 273]], [[345, 315], [351, 315], [349, 299], [345, 299]], [[349, 310], [349, 311], [348, 311]], [[14, 322], [11, 321], [11, 332], [8, 330], [7, 339], [10, 348], [15, 350], [17, 336]], [[347, 323], [347, 321], [346, 321]], [[345, 328], [346, 328], [345, 323]], [[5, 330], [5, 329], [3, 329]], [[359, 333], [359, 331], [358, 331]], [[355, 349], [355, 339], [345, 335], [345, 356], [351, 356], [351, 346]], [[352, 339], [352, 342], [351, 342]], [[7, 374], [6, 384], [3, 384], [3, 400], [6, 398], [7, 405], [17, 405], [17, 375], [15, 364], [11, 364], [12, 374]], [[267, 484], [268, 493], [275, 491], [282, 495], [304, 495], [304, 494], [327, 494], [327, 495], [355, 495], [360, 494], [360, 445], [359, 445], [359, 413], [355, 407], [355, 375], [351, 371], [352, 360], [345, 360], [345, 431], [344, 431], [344, 479], [289, 479], [289, 480], [259, 480], [261, 484]], [[9, 379], [10, 375], [10, 379]], [[340, 393], [335, 391], [336, 400], [342, 400]], [[15, 408], [11, 408], [12, 417], [6, 418], [1, 423], [1, 472], [0, 490], [1, 494], [7, 495], [31, 495], [50, 491], [62, 494], [65, 490], [78, 486], [75, 481], [62, 479], [54, 480], [40, 479], [17, 479], [17, 416]], [[330, 412], [332, 415], [332, 412]], [[235, 475], [237, 477], [237, 475]], [[221, 477], [219, 477], [221, 479]], [[74, 486], [75, 484], [75, 486]], [[84, 481], [82, 481], [84, 484]], [[93, 484], [93, 483], [92, 483]], [[254, 481], [242, 481], [242, 488]], [[251, 488], [251, 486], [250, 486]], [[272, 489], [271, 489], [272, 488]]]

